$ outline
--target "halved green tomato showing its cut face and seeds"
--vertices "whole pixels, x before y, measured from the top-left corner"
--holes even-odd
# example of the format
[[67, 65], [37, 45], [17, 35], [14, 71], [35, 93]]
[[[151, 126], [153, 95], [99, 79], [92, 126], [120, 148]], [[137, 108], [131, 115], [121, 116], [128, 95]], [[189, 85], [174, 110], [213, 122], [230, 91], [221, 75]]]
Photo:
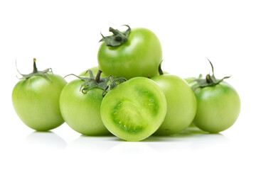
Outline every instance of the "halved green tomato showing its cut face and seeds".
[[100, 114], [114, 135], [127, 141], [139, 141], [152, 135], [163, 123], [166, 98], [154, 81], [135, 77], [107, 93]]

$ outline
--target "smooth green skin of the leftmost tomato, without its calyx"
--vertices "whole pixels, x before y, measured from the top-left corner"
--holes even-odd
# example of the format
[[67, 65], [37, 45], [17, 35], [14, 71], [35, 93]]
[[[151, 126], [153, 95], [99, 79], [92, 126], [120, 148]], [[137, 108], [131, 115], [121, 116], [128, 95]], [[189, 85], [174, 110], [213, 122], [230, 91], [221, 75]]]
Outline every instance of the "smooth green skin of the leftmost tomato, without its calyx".
[[19, 118], [29, 128], [48, 131], [64, 123], [60, 114], [60, 92], [67, 83], [57, 74], [46, 74], [18, 81], [12, 92], [12, 103]]

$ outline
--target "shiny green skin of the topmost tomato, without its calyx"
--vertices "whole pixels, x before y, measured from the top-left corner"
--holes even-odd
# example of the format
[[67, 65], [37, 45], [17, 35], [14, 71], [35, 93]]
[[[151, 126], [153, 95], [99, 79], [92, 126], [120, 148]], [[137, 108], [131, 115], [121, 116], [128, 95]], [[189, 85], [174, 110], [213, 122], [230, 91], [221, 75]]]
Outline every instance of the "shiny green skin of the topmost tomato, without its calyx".
[[97, 60], [106, 75], [125, 79], [154, 77], [162, 60], [161, 44], [151, 30], [133, 28], [122, 45], [109, 47], [102, 42]]

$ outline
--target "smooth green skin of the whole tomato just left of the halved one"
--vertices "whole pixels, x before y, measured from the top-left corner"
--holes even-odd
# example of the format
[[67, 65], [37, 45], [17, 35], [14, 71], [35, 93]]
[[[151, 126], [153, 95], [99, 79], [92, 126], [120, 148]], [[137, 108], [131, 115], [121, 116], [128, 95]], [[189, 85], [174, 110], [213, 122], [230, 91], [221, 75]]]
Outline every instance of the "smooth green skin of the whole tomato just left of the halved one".
[[80, 86], [84, 81], [75, 79], [68, 83], [60, 95], [60, 111], [65, 122], [82, 135], [107, 135], [100, 117], [102, 89], [91, 89], [82, 94]]

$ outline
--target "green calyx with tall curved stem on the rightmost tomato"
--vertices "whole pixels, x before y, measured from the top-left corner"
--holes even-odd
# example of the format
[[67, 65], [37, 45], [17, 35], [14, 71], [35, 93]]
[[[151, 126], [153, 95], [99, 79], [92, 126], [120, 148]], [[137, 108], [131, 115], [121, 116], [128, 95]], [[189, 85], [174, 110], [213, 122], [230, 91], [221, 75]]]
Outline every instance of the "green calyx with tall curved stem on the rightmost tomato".
[[[208, 60], [210, 62], [210, 60]], [[199, 77], [199, 79], [194, 79], [192, 81], [196, 81], [196, 83], [198, 84], [198, 86], [196, 86], [193, 91], [196, 91], [196, 89], [198, 88], [204, 88], [206, 86], [215, 86], [217, 84], [220, 84], [221, 81], [223, 81], [224, 79], [228, 79], [229, 77], [223, 77], [223, 79], [216, 79], [215, 75], [214, 75], [214, 70], [213, 70], [213, 64], [210, 62], [210, 67], [212, 68], [212, 72], [213, 74], [207, 74], [206, 75], [206, 79], [201, 79], [201, 77]]]

